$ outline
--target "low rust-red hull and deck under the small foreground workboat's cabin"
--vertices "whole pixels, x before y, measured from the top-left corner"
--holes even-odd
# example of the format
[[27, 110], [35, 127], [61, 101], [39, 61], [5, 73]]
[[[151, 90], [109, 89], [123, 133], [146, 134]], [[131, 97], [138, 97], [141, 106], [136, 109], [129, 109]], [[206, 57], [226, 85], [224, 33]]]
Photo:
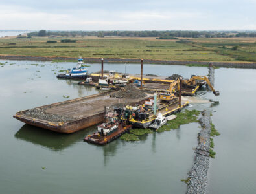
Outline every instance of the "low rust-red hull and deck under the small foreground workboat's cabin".
[[104, 136], [104, 135], [100, 135], [99, 133], [93, 133], [92, 135], [86, 136], [84, 138], [84, 141], [93, 143], [93, 144], [105, 145], [119, 138], [121, 135], [123, 135], [130, 129], [132, 129], [132, 125], [123, 126], [122, 124], [119, 124], [117, 131], [115, 131], [111, 135]]

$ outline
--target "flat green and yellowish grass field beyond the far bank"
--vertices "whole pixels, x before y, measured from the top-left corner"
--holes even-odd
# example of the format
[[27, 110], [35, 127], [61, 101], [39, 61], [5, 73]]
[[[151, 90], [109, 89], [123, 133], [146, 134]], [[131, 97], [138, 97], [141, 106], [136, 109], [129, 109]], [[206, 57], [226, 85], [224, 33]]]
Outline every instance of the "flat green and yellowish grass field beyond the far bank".
[[[61, 43], [75, 39], [76, 43]], [[183, 38], [184, 39], [184, 38]], [[0, 54], [91, 58], [135, 58], [178, 61], [256, 61], [256, 38], [0, 38]], [[56, 43], [46, 43], [57, 41]], [[238, 45], [238, 50], [232, 50]]]

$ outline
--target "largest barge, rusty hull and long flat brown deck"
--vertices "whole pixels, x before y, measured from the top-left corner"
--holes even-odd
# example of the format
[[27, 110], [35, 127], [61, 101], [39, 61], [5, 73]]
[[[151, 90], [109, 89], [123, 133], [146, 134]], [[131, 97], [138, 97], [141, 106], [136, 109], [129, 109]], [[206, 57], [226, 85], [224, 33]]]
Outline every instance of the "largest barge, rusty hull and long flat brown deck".
[[[110, 97], [111, 92], [113, 91], [44, 105], [34, 109], [35, 111], [41, 111], [40, 113], [43, 113], [41, 116], [29, 116], [30, 114], [27, 111], [31, 109], [19, 111], [14, 115], [14, 118], [26, 124], [58, 133], [74, 133], [102, 122], [104, 119], [104, 106], [121, 103], [125, 105], [141, 105], [150, 98], [150, 96], [139, 99], [112, 98]], [[52, 118], [70, 119], [68, 121], [55, 119], [53, 121]]]

